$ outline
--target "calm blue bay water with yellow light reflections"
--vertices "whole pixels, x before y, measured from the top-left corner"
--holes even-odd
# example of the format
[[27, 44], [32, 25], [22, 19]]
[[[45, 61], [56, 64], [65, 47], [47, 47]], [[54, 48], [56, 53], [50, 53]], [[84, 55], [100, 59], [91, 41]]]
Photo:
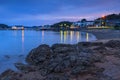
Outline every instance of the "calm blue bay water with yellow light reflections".
[[0, 71], [14, 68], [13, 63], [24, 62], [24, 55], [40, 44], [74, 44], [94, 41], [93, 34], [80, 31], [0, 30]]

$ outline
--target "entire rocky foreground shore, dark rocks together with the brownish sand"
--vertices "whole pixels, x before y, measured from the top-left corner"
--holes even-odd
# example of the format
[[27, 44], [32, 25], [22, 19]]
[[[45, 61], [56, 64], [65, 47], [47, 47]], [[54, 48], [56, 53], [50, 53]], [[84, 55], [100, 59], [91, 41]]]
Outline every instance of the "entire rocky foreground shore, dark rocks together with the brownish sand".
[[19, 70], [7, 70], [0, 80], [120, 80], [120, 40], [43, 44], [26, 57]]

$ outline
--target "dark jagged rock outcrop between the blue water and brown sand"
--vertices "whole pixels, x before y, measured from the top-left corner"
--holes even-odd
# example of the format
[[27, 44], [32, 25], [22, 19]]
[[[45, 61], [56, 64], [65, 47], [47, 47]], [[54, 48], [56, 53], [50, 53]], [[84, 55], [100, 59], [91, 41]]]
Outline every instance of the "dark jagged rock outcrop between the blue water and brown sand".
[[[54, 44], [51, 47], [40, 45], [28, 54], [26, 61], [29, 65], [37, 66], [40, 74], [49, 80], [61, 80], [60, 77], [68, 79], [63, 75], [55, 74], [75, 76], [83, 73], [102, 73], [101, 69], [95, 68], [94, 63], [101, 63], [104, 60], [104, 55], [101, 54], [107, 50], [104, 45], [101, 42], [80, 42], [75, 45]], [[17, 67], [28, 68], [23, 64], [17, 64]]]

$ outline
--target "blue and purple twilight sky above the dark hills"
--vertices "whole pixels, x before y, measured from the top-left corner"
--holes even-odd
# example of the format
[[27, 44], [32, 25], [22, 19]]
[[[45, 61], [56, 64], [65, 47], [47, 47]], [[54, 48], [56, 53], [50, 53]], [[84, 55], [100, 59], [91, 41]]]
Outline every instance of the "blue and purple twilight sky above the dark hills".
[[120, 0], [0, 0], [0, 23], [44, 25], [120, 12]]

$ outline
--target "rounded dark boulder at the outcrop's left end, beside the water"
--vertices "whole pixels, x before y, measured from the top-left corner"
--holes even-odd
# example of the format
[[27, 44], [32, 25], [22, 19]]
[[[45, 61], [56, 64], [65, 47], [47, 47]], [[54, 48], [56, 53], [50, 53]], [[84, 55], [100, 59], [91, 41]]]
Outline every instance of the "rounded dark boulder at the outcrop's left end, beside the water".
[[26, 61], [32, 65], [41, 65], [46, 59], [49, 59], [52, 51], [48, 45], [40, 45], [39, 47], [31, 50], [26, 57]]

